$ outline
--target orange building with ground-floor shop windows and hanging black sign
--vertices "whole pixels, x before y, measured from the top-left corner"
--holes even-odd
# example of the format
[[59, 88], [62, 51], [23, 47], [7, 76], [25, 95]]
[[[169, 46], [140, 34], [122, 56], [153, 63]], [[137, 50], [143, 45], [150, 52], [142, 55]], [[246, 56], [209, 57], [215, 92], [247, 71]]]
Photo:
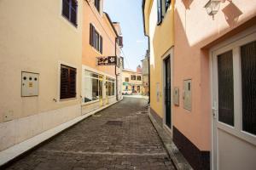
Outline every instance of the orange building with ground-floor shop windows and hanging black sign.
[[[103, 1], [85, 1], [83, 4], [82, 40], [82, 113], [88, 113], [120, 99], [119, 57], [115, 65], [98, 65], [99, 57], [120, 55], [121, 32], [102, 11]], [[115, 25], [115, 26], [114, 26]], [[118, 92], [117, 92], [118, 91]]]

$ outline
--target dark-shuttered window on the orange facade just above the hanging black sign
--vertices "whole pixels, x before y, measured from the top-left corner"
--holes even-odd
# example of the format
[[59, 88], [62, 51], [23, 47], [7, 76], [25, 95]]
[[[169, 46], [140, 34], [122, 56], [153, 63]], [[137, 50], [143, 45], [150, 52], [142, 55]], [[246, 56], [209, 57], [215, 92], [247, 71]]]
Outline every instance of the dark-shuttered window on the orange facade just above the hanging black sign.
[[102, 54], [103, 46], [102, 46], [103, 40], [102, 36], [99, 34], [98, 31], [96, 31], [95, 27], [90, 24], [90, 45], [93, 48], [96, 48], [98, 52]]

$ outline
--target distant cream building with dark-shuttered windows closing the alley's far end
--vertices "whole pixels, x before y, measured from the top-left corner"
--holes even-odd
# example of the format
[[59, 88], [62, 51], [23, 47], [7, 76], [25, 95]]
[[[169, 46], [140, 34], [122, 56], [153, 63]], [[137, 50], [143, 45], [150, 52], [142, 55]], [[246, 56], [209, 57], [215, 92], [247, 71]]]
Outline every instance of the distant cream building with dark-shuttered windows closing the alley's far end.
[[[142, 94], [143, 93], [143, 74], [138, 71], [124, 69], [123, 77], [123, 94]], [[126, 93], [126, 91], [129, 91]]]

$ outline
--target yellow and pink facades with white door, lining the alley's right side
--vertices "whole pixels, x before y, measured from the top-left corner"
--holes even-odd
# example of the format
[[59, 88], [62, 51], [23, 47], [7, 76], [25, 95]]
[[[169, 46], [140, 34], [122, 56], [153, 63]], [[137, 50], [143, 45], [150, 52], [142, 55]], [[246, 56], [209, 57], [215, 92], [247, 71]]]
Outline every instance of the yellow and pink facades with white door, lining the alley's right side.
[[143, 1], [151, 114], [193, 168], [253, 169], [256, 2], [171, 2]]

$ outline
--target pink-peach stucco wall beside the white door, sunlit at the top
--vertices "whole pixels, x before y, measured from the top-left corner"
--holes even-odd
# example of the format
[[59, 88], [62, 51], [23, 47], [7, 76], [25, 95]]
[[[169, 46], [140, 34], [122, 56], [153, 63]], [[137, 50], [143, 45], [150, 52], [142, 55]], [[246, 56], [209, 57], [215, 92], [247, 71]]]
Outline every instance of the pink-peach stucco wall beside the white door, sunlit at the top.
[[[200, 150], [211, 149], [211, 72], [208, 50], [201, 48], [222, 37], [256, 14], [256, 0], [222, 1], [214, 20], [204, 7], [207, 1], [176, 1], [174, 87], [183, 92], [183, 80], [192, 79], [192, 111], [173, 108], [173, 123]], [[200, 20], [200, 22], [197, 22]]]

